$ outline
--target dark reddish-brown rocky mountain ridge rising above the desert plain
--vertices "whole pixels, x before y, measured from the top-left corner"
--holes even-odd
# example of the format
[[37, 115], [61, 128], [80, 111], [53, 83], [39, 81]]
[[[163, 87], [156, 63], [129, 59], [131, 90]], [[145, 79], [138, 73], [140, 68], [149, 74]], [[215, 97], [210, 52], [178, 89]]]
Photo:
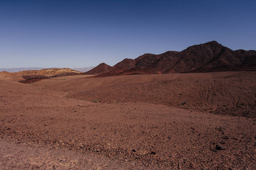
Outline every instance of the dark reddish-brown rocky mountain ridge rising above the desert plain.
[[217, 41], [189, 46], [181, 52], [143, 54], [135, 59], [123, 59], [116, 65], [101, 63], [82, 74], [98, 76], [129, 74], [197, 73], [210, 71], [256, 71], [255, 50], [232, 50]]

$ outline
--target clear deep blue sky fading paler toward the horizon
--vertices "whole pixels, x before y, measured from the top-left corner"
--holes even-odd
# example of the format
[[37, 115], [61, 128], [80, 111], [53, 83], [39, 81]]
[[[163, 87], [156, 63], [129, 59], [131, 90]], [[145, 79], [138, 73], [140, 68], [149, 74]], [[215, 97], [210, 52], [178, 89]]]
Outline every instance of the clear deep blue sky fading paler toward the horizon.
[[256, 1], [0, 0], [0, 68], [113, 66], [212, 40], [256, 50]]

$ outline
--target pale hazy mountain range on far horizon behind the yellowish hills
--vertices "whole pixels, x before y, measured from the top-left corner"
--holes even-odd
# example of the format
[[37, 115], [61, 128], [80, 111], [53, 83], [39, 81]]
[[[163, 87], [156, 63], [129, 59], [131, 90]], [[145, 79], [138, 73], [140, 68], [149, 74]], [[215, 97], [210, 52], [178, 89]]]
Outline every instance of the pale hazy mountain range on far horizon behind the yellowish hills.
[[[73, 68], [72, 70], [85, 72], [85, 71], [89, 71], [93, 68], [94, 67], [82, 67], [82, 68]], [[48, 68], [45, 68], [45, 67], [20, 67], [20, 68], [10, 68], [10, 69], [2, 68], [2, 69], [0, 69], [0, 72], [7, 71], [9, 73], [16, 73], [16, 72], [25, 71], [25, 70], [28, 71], [28, 70], [42, 70], [42, 69], [48, 69]], [[59, 68], [50, 68], [50, 69], [59, 69]]]

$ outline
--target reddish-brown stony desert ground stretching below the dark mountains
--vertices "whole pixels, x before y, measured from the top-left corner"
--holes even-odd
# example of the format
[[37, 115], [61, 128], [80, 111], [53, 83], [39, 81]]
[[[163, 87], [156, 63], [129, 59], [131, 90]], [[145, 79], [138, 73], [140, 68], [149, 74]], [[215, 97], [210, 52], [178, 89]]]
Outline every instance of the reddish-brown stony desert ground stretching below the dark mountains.
[[0, 169], [255, 169], [255, 75], [0, 77]]

